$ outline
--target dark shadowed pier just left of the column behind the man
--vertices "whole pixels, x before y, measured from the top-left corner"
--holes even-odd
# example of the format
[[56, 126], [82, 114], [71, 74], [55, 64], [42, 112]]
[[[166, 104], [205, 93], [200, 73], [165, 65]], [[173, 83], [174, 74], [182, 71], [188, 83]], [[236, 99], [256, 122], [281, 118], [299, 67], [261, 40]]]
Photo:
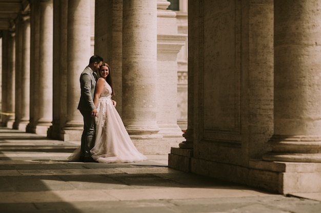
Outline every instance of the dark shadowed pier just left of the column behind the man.
[[67, 15], [68, 2], [53, 2], [53, 121], [48, 136], [64, 139], [67, 119]]

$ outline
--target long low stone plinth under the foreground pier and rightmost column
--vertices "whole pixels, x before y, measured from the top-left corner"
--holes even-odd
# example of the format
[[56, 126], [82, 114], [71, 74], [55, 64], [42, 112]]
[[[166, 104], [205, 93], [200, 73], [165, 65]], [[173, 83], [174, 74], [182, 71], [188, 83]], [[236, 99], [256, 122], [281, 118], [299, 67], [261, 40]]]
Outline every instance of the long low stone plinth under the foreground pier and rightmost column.
[[[172, 154], [171, 154], [172, 155]], [[187, 167], [184, 158], [177, 164]], [[173, 158], [169, 166], [173, 168]], [[261, 188], [279, 194], [321, 193], [321, 163], [278, 162], [252, 159], [249, 166], [191, 158], [190, 172]], [[175, 169], [175, 168], [174, 168]]]

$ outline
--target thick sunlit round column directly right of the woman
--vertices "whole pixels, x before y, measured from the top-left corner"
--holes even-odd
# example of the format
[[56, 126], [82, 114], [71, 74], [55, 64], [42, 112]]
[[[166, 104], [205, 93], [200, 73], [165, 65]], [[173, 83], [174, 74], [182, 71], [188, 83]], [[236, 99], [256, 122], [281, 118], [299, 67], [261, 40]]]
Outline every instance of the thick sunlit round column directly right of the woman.
[[156, 122], [157, 1], [123, 5], [123, 121], [132, 138], [160, 138]]

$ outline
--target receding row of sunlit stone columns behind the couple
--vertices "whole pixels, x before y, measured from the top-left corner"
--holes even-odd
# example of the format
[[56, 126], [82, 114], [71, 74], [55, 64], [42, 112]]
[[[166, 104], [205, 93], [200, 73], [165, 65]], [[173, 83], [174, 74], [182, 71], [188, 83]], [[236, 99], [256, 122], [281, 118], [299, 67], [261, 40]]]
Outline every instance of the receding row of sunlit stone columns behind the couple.
[[[104, 5], [96, 7], [95, 15], [90, 12], [93, 2]], [[4, 76], [11, 68], [15, 74], [7, 76], [15, 80], [14, 89], [10, 90], [11, 84], [4, 84], [8, 101], [3, 107], [6, 111], [15, 112], [14, 121], [12, 116], [7, 116], [6, 121], [3, 121], [9, 128], [45, 134], [54, 139], [80, 141], [83, 117], [77, 110], [80, 96], [79, 75], [92, 55], [91, 36], [105, 27], [109, 30], [112, 17], [99, 18], [99, 13], [106, 14], [109, 4], [116, 5], [119, 2], [30, 1], [28, 10], [15, 21], [14, 33], [8, 31], [3, 36], [4, 43], [7, 43], [3, 47], [5, 51], [12, 51], [13, 44], [10, 42], [15, 42], [14, 52], [7, 55], [7, 66], [4, 69]], [[120, 4], [121, 10], [117, 16], [123, 21], [119, 22], [120, 29], [114, 28], [111, 33], [120, 32], [123, 39], [95, 38], [94, 44], [94, 53], [111, 64], [115, 88], [121, 89], [120, 93], [116, 91], [116, 101], [121, 101], [117, 110], [135, 145], [146, 154], [156, 150], [168, 153], [170, 146], [175, 146], [182, 140], [182, 131], [176, 122], [176, 59], [186, 35], [177, 35], [173, 12], [166, 20], [159, 17], [164, 17], [168, 5], [166, 0], [134, 0]], [[92, 32], [91, 17], [98, 17], [95, 19], [95, 32]], [[157, 29], [166, 25], [166, 21], [170, 19], [174, 21], [170, 21], [174, 25], [163, 35], [164, 31], [162, 34]], [[111, 42], [117, 42], [117, 45], [114, 43], [109, 46]], [[159, 43], [162, 43], [161, 50]], [[117, 51], [119, 54], [113, 56], [112, 53]], [[158, 53], [163, 52], [171, 52], [172, 55], [166, 59], [159, 58]], [[118, 57], [117, 60], [121, 63], [116, 64], [112, 57]], [[160, 59], [174, 66], [167, 66], [164, 70], [163, 62], [158, 63]], [[15, 67], [9, 64], [10, 61], [15, 62]], [[160, 69], [166, 76], [159, 74]], [[158, 91], [168, 82], [172, 86], [170, 90]], [[9, 91], [15, 92], [14, 100], [9, 100]], [[163, 104], [162, 99], [169, 96], [171, 99], [165, 100], [167, 105]], [[162, 107], [158, 108], [160, 105]], [[162, 129], [166, 131], [162, 133]], [[152, 143], [156, 143], [158, 148], [148, 145], [151, 142], [147, 143], [148, 139], [152, 139]]]

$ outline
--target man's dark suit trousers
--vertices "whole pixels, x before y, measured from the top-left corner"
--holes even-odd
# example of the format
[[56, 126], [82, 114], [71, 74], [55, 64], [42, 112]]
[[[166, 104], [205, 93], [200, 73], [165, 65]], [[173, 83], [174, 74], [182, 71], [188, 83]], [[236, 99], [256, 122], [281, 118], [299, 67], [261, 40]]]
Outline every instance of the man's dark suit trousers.
[[84, 117], [84, 131], [82, 135], [81, 158], [90, 157], [90, 150], [95, 145], [95, 118], [90, 111], [80, 111]]

